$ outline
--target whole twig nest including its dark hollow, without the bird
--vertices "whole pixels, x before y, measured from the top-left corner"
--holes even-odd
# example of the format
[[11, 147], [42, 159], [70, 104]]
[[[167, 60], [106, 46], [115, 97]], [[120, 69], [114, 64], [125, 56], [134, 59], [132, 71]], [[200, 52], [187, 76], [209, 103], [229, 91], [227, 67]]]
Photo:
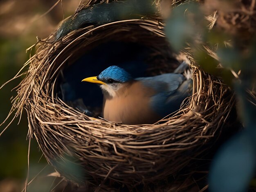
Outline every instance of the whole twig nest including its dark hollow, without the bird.
[[[235, 131], [229, 129], [236, 123], [234, 94], [197, 65], [190, 49], [173, 53], [160, 18], [91, 25], [58, 40], [55, 32], [36, 50], [11, 112], [17, 117], [26, 110], [29, 137], [68, 181], [98, 190], [186, 191], [205, 178], [207, 159], [225, 133]], [[153, 125], [99, 118], [101, 90], [81, 83], [110, 65], [145, 77], [172, 72], [183, 61], [191, 67], [193, 94], [177, 113]]]

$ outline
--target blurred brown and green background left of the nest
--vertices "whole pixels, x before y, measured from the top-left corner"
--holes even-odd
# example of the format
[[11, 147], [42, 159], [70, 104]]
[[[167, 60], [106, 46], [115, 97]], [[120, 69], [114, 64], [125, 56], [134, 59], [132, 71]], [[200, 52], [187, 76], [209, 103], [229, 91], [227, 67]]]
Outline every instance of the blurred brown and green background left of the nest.
[[[54, 4], [56, 4], [54, 8]], [[59, 22], [76, 10], [80, 0], [1, 0], [0, 1], [0, 86], [11, 79], [29, 59], [26, 49], [36, 43], [36, 37], [46, 38], [58, 27]], [[51, 9], [49, 11], [49, 9]], [[49, 11], [49, 13], [47, 13]], [[33, 53], [32, 53], [33, 54]], [[18, 78], [0, 91], [0, 122], [2, 123], [11, 109], [11, 92], [21, 78]], [[9, 122], [0, 127], [0, 132]], [[0, 192], [22, 191], [27, 176], [27, 154], [29, 142], [26, 140], [27, 116], [22, 114], [20, 124], [15, 120], [0, 137]], [[30, 151], [29, 181], [42, 170], [47, 162], [34, 139]], [[44, 173], [43, 173], [44, 172]], [[46, 167], [42, 175], [54, 172]], [[39, 176], [40, 177], [40, 176]], [[45, 179], [42, 188], [48, 191], [52, 178]], [[41, 180], [42, 181], [42, 180]], [[38, 183], [34, 182], [33, 185]], [[34, 191], [33, 186], [28, 188]]]

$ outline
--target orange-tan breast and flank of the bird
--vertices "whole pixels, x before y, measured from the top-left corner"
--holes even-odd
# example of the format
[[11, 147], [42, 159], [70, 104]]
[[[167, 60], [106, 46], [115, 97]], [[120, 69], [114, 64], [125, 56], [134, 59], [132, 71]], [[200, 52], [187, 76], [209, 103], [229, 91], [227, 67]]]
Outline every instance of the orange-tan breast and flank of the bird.
[[150, 109], [153, 89], [145, 88], [139, 82], [121, 89], [114, 98], [105, 98], [103, 117], [108, 121], [136, 125], [155, 123], [160, 117]]

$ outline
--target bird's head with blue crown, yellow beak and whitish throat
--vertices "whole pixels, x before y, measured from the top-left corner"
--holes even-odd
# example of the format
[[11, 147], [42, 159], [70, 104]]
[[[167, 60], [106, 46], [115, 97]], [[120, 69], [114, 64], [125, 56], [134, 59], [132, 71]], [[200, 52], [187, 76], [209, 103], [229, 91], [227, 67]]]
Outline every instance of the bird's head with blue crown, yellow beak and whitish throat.
[[88, 77], [82, 81], [101, 84], [100, 87], [103, 92], [115, 97], [117, 91], [124, 87], [124, 83], [132, 79], [132, 76], [127, 71], [115, 65], [103, 70], [98, 76]]

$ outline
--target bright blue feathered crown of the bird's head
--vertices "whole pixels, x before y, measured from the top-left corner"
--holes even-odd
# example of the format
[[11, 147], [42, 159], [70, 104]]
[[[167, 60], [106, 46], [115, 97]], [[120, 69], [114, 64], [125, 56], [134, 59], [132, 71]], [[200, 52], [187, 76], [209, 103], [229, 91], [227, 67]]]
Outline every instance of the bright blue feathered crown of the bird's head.
[[125, 83], [132, 80], [132, 76], [116, 65], [110, 66], [97, 76], [97, 79], [103, 81], [104, 83]]

